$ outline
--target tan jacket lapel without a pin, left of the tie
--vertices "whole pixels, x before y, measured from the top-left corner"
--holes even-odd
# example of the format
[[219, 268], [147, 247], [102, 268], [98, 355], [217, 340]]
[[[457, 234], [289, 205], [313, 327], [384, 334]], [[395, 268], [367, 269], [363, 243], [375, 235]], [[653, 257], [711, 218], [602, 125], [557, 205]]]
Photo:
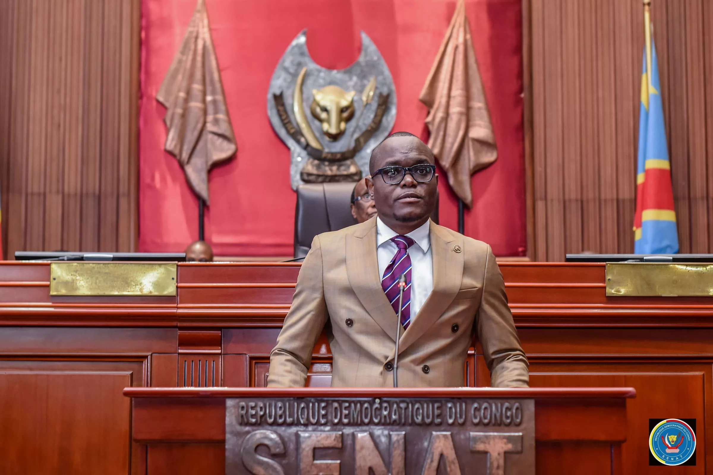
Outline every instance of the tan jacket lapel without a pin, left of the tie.
[[[376, 259], [376, 218], [347, 234], [347, 277], [356, 297], [382, 330], [396, 341], [396, 314], [381, 288]], [[403, 329], [401, 329], [403, 332]], [[402, 333], [403, 335], [403, 333]]]

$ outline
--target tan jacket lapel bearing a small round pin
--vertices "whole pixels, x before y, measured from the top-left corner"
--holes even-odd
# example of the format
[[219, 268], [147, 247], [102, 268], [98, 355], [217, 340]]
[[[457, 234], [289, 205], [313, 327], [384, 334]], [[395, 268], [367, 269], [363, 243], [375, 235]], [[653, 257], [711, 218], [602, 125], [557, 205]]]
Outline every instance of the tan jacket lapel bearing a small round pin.
[[[434, 268], [434, 290], [426, 298], [426, 302], [419, 310], [416, 318], [411, 321], [409, 328], [399, 341], [399, 354], [403, 353], [409, 345], [418, 340], [421, 335], [436, 323], [443, 312], [451, 305], [461, 288], [463, 279], [463, 253], [453, 251], [453, 246], [458, 244], [463, 248], [461, 236], [452, 236], [444, 231], [441, 226], [431, 221], [431, 261]], [[382, 292], [383, 293], [383, 292]], [[386, 301], [388, 304], [389, 302]]]

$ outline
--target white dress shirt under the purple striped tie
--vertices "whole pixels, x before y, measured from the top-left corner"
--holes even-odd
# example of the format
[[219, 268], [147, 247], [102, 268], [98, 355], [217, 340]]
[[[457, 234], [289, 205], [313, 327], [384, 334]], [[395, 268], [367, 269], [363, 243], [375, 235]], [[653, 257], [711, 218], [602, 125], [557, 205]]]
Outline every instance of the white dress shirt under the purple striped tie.
[[[409, 247], [411, 258], [411, 321], [424, 305], [426, 298], [434, 290], [434, 263], [431, 261], [431, 220], [426, 221], [419, 228], [414, 229], [406, 236], [416, 241]], [[389, 226], [376, 218], [376, 259], [379, 261], [379, 280], [384, 276], [386, 266], [394, 259], [396, 250], [399, 249], [391, 238], [398, 236]]]

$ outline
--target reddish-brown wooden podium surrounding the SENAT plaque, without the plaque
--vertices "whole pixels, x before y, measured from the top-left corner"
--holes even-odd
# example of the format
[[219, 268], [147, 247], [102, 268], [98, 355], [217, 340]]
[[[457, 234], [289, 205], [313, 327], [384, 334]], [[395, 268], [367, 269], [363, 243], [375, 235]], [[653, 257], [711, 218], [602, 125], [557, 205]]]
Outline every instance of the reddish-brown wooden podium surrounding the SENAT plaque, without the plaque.
[[132, 437], [148, 453], [148, 475], [225, 474], [227, 397], [534, 399], [537, 474], [624, 474], [630, 473], [622, 471], [621, 459], [621, 444], [627, 437], [626, 400], [635, 394], [632, 388], [124, 390], [133, 398]]

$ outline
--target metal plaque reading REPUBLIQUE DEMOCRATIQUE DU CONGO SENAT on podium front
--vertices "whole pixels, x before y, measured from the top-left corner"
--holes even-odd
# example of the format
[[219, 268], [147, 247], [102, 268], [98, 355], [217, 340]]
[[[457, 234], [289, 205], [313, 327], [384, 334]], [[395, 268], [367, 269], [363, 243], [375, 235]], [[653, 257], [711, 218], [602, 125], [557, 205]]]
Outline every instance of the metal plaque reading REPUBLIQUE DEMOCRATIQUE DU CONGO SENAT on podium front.
[[534, 411], [510, 398], [227, 399], [225, 473], [534, 475]]

